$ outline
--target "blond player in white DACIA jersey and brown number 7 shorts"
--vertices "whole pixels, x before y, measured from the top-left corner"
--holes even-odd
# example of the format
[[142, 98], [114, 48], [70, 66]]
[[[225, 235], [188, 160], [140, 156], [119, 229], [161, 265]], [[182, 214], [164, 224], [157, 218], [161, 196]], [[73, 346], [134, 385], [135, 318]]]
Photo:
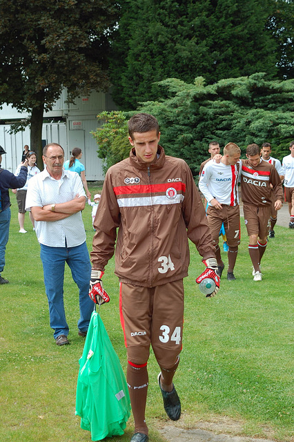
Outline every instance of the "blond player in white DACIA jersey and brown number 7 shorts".
[[224, 262], [219, 249], [219, 230], [224, 223], [228, 243], [228, 280], [235, 280], [234, 267], [240, 243], [240, 212], [237, 183], [241, 171], [241, 151], [237, 144], [228, 143], [219, 164], [206, 163], [199, 180], [199, 189], [208, 201], [207, 220], [213, 237], [219, 275]]

